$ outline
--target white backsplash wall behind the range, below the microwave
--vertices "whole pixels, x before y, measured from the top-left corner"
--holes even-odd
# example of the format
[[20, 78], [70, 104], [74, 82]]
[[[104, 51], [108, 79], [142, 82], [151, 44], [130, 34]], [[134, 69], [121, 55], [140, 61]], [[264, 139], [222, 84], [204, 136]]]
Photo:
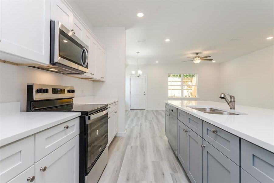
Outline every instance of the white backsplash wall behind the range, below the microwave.
[[0, 63], [0, 103], [21, 102], [20, 111], [26, 112], [27, 83], [74, 86], [77, 97], [93, 95], [92, 81], [27, 66]]

